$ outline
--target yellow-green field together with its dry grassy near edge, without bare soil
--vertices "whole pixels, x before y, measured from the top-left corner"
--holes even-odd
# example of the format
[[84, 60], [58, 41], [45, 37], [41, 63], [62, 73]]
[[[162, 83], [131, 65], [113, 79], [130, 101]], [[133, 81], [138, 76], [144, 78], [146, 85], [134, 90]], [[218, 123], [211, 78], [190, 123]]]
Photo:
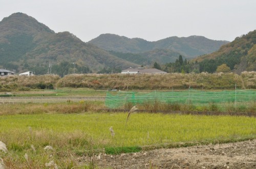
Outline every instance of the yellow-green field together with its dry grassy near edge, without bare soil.
[[[100, 161], [104, 155], [99, 158], [99, 153], [115, 153], [121, 147], [144, 152], [256, 138], [256, 121], [250, 117], [136, 113], [125, 126], [126, 118], [127, 113], [106, 112], [2, 115], [0, 140], [8, 152], [0, 152], [0, 156], [9, 168], [42, 168], [52, 160], [61, 168], [90, 168], [92, 159], [88, 161], [86, 157], [94, 154], [93, 166], [108, 168]], [[52, 146], [53, 150], [44, 150], [46, 146]], [[111, 156], [114, 155], [105, 158], [115, 167]], [[148, 165], [151, 162], [147, 161]]]

